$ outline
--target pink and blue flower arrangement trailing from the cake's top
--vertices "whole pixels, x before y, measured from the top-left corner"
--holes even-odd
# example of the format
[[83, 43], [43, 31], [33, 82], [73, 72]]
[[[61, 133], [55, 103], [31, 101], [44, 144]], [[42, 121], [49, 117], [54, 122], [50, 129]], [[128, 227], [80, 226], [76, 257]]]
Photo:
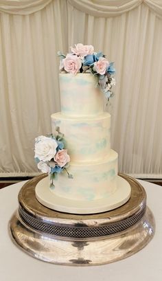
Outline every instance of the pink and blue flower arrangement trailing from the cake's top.
[[97, 86], [104, 92], [106, 98], [109, 100], [113, 96], [114, 63], [109, 63], [102, 52], [96, 53], [92, 45], [78, 43], [75, 47], [71, 47], [71, 53], [67, 56], [61, 52], [58, 52], [58, 56], [60, 56], [60, 71], [73, 75], [91, 72], [97, 76]]

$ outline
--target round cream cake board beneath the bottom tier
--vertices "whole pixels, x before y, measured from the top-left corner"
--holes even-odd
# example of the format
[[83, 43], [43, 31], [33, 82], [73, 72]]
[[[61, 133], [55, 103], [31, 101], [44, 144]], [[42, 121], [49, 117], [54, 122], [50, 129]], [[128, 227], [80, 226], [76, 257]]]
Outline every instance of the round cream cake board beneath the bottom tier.
[[36, 184], [36, 199], [46, 207], [69, 214], [95, 214], [114, 210], [130, 199], [130, 184], [122, 177], [116, 177], [116, 190], [110, 196], [95, 200], [75, 200], [58, 196], [49, 189], [48, 177]]

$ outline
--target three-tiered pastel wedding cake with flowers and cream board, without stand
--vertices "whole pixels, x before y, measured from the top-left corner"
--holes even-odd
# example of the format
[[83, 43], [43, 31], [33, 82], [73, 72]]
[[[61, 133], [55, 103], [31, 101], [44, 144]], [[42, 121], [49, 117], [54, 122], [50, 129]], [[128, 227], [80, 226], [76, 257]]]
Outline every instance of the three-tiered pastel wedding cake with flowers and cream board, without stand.
[[[79, 54], [60, 55], [61, 112], [51, 115], [52, 134], [36, 138], [38, 168], [49, 172], [36, 186], [36, 198], [60, 212], [86, 214], [126, 203], [130, 186], [117, 176], [111, 115], [103, 111], [103, 90], [107, 98], [112, 95], [113, 64], [102, 53], [94, 53], [92, 46], [86, 46], [81, 56], [85, 46], [78, 45]], [[84, 71], [87, 67], [91, 73]]]

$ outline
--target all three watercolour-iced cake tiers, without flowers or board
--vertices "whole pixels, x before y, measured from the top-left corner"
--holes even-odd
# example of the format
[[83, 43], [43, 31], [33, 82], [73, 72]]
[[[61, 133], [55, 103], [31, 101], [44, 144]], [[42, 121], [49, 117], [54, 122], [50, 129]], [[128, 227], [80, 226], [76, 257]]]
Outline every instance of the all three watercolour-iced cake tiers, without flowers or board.
[[92, 74], [60, 74], [61, 111], [51, 115], [52, 133], [64, 134], [71, 161], [54, 179], [57, 196], [94, 201], [117, 189], [118, 155], [111, 149], [111, 115], [103, 111], [103, 93]]

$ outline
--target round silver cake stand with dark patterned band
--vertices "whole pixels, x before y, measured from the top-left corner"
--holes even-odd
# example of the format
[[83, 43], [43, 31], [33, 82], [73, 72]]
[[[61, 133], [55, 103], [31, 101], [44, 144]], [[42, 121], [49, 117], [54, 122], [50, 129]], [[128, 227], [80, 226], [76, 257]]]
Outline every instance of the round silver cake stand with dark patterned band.
[[154, 236], [154, 217], [143, 187], [126, 175], [127, 203], [101, 214], [76, 215], [50, 210], [35, 196], [46, 175], [27, 181], [19, 192], [19, 210], [10, 220], [16, 245], [34, 258], [58, 265], [102, 265], [122, 260], [145, 247]]

